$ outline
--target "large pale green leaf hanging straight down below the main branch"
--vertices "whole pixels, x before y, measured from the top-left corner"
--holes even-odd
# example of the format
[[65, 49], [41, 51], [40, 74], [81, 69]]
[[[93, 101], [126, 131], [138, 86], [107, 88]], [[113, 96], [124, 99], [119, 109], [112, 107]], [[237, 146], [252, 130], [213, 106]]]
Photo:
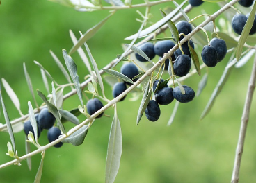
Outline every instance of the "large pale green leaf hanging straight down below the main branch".
[[106, 155], [106, 177], [105, 183], [113, 183], [118, 174], [120, 159], [122, 155], [122, 132], [118, 112], [115, 105], [115, 114], [109, 134], [108, 152]]

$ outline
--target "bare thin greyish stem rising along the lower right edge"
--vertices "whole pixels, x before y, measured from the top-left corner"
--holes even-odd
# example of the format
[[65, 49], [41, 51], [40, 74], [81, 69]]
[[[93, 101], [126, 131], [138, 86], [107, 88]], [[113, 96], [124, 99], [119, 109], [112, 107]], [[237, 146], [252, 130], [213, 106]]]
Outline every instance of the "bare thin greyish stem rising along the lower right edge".
[[250, 82], [248, 85], [246, 101], [244, 103], [243, 115], [241, 117], [239, 139], [237, 143], [236, 157], [234, 158], [234, 168], [233, 168], [232, 180], [231, 180], [232, 183], [239, 182], [239, 169], [241, 166], [241, 158], [243, 154], [244, 141], [246, 139], [246, 129], [249, 121], [250, 106], [253, 101], [253, 92], [255, 90], [255, 82], [256, 82], [256, 57], [253, 63], [253, 71], [250, 75]]

